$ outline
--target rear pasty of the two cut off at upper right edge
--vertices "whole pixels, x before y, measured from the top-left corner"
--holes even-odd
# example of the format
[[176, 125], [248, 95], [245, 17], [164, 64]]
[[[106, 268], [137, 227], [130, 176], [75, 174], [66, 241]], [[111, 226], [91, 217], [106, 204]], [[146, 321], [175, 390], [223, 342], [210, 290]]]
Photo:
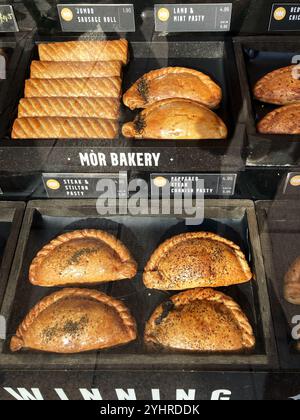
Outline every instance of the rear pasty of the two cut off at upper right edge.
[[268, 73], [255, 88], [256, 99], [274, 105], [300, 101], [300, 70], [298, 66], [284, 67]]

